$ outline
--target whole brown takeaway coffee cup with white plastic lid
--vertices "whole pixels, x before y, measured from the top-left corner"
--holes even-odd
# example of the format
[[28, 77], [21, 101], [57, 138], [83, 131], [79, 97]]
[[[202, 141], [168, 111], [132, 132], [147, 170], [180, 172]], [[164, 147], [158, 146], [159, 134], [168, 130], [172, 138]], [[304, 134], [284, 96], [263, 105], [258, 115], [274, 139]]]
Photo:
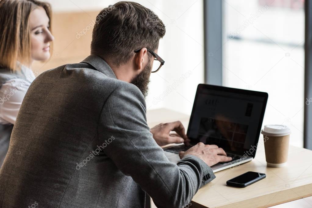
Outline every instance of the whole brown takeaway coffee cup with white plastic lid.
[[286, 165], [290, 133], [286, 125], [264, 125], [261, 134], [263, 134], [268, 167], [279, 168]]

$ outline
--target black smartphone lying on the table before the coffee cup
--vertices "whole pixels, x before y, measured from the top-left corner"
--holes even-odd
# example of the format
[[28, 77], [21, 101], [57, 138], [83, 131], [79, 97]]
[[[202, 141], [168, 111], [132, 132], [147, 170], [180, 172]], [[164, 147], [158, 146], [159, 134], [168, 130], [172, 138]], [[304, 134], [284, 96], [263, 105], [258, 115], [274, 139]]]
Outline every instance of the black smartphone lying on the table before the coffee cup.
[[266, 177], [266, 174], [264, 173], [256, 173], [256, 172], [249, 171], [249, 172], [246, 172], [244, 174], [241, 174], [239, 176], [236, 176], [235, 178], [228, 180], [227, 185], [243, 188], [257, 181], [260, 181], [261, 179], [265, 177]]

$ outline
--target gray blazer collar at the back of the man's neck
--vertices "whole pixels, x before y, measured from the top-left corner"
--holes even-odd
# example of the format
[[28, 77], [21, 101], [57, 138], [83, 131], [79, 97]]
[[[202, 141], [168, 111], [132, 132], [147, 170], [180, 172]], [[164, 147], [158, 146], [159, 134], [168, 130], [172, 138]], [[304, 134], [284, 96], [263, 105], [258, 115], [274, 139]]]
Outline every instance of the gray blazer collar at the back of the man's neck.
[[85, 58], [83, 61], [81, 61], [80, 63], [88, 63], [91, 66], [93, 66], [96, 70], [98, 70], [99, 72], [105, 74], [106, 76], [117, 79], [113, 70], [106, 63], [106, 61], [102, 59], [100, 56], [90, 55], [87, 58]]

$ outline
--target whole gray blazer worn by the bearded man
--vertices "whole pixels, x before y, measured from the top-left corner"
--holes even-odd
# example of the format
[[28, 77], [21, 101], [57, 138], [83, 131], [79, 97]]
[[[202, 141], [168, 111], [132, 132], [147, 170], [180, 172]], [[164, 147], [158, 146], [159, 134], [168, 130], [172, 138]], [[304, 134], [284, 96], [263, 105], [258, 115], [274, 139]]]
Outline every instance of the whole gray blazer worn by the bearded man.
[[[212, 169], [166, 158], [140, 90], [91, 55], [29, 87], [0, 170], [0, 207], [184, 207]], [[209, 196], [207, 196], [209, 197]]]

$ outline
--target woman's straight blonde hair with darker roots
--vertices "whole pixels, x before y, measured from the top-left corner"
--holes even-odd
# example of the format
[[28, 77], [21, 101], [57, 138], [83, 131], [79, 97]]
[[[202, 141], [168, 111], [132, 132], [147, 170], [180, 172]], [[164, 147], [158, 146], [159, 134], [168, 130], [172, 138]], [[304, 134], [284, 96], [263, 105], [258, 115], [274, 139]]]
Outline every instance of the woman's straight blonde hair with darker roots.
[[[31, 64], [29, 15], [43, 7], [50, 19], [49, 3], [37, 0], [0, 0], [0, 67], [20, 70], [20, 64]], [[51, 30], [51, 27], [50, 27]]]

